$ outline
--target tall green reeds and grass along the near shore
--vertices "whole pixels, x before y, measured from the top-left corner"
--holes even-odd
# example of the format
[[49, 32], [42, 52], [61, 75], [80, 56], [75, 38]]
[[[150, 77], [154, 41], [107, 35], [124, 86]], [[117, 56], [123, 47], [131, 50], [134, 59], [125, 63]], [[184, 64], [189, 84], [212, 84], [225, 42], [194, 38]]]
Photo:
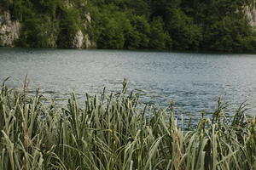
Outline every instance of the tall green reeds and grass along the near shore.
[[[15, 89], [0, 93], [0, 169], [256, 169], [256, 120], [240, 107], [230, 122], [219, 102], [212, 119], [181, 130], [173, 105], [142, 105], [137, 94], [85, 97], [67, 105]], [[152, 116], [147, 116], [152, 115]]]

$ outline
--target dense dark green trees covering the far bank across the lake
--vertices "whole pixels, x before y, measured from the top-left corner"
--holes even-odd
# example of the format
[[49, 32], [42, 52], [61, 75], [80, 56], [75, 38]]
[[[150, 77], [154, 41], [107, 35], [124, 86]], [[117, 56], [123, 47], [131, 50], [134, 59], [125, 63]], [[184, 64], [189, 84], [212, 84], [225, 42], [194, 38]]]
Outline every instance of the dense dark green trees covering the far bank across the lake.
[[[245, 7], [253, 0], [3, 0], [23, 24], [22, 47], [73, 47], [80, 30], [97, 48], [255, 52]], [[91, 22], [88, 18], [91, 16]]]

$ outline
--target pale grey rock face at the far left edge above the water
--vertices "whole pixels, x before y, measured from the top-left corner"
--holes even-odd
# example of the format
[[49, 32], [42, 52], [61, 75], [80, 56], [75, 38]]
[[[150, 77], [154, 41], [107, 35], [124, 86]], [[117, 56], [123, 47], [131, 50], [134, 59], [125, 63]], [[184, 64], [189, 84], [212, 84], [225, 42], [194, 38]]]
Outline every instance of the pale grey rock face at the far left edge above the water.
[[9, 11], [0, 9], [0, 46], [14, 47], [14, 42], [20, 37], [20, 22], [11, 20]]

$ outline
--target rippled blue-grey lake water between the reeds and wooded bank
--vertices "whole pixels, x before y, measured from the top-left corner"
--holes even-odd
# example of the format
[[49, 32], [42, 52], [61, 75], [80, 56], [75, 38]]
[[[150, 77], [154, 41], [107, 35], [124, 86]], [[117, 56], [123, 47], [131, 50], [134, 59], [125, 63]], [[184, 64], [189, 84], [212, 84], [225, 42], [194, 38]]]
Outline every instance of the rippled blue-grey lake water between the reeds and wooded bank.
[[[0, 48], [0, 81], [20, 88], [25, 75], [30, 89], [66, 99], [75, 90], [98, 94], [118, 91], [126, 78], [130, 89], [143, 89], [147, 101], [169, 105], [179, 114], [211, 113], [218, 97], [230, 111], [247, 100], [256, 105], [256, 55], [183, 54], [113, 50]], [[248, 111], [255, 115], [256, 110]]]

